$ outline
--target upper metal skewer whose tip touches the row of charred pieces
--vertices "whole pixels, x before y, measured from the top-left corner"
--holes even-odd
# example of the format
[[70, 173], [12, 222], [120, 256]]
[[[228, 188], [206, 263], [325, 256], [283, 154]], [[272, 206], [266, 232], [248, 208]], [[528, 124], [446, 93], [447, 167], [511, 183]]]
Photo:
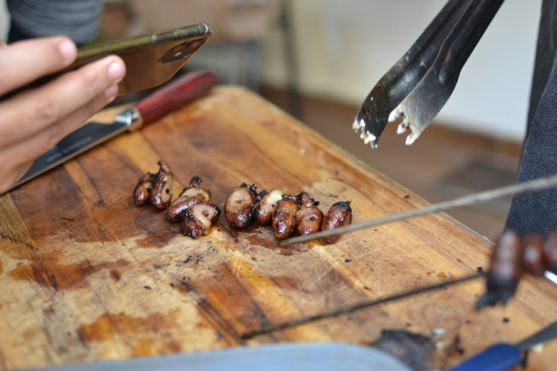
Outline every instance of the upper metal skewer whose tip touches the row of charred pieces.
[[385, 218], [362, 221], [360, 223], [354, 223], [344, 227], [339, 227], [330, 230], [322, 230], [321, 232], [316, 232], [313, 233], [312, 235], [305, 235], [305, 236], [285, 239], [284, 241], [279, 242], [278, 245], [287, 246], [291, 244], [298, 244], [301, 242], [310, 242], [316, 239], [323, 239], [333, 235], [343, 235], [344, 233], [353, 232], [355, 230], [360, 230], [365, 228], [371, 228], [374, 226], [379, 226], [380, 224], [391, 223], [393, 221], [406, 220], [406, 219], [414, 218], [415, 216], [449, 210], [455, 207], [469, 206], [469, 205], [474, 205], [476, 203], [491, 201], [496, 198], [501, 198], [503, 196], [524, 194], [526, 192], [531, 192], [531, 191], [541, 191], [543, 189], [548, 189], [556, 186], [557, 186], [557, 175], [552, 175], [551, 177], [542, 177], [540, 179], [529, 180], [528, 182], [512, 184], [506, 187], [491, 189], [489, 191], [483, 191], [477, 194], [471, 194], [468, 196], [455, 198], [454, 200], [445, 201], [443, 203], [436, 203], [434, 205], [429, 205], [422, 209], [411, 210], [409, 212], [402, 212], [400, 214], [386, 216]]

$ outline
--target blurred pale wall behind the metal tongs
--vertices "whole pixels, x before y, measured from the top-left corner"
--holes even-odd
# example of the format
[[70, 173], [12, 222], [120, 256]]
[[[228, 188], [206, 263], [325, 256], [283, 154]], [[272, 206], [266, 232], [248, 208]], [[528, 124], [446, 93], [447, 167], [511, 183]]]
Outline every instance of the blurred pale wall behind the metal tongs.
[[[359, 105], [446, 0], [294, 0], [304, 93]], [[533, 72], [541, 0], [505, 0], [436, 119], [521, 141]], [[262, 79], [284, 86], [282, 35], [264, 42]]]

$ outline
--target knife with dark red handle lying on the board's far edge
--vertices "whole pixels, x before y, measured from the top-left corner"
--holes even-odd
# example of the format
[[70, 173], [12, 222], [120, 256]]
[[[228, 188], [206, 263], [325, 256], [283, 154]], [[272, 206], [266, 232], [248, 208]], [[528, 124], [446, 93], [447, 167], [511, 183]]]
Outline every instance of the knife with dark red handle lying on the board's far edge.
[[109, 110], [101, 111], [100, 115], [93, 116], [93, 120], [89, 120], [82, 127], [68, 134], [53, 148], [38, 157], [29, 171], [10, 189], [14, 189], [116, 135], [153, 123], [165, 114], [205, 95], [216, 84], [218, 84], [218, 78], [213, 72], [189, 72], [148, 95], [135, 106], [123, 109], [116, 114], [115, 118], [109, 115], [112, 120], [109, 123], [94, 120]]

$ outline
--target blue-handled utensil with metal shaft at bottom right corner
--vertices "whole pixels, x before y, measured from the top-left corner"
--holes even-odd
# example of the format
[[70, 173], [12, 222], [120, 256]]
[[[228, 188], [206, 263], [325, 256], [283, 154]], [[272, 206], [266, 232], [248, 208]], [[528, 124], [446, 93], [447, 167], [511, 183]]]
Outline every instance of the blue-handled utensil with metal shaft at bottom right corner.
[[557, 338], [557, 322], [549, 324], [517, 345], [498, 343], [449, 371], [506, 371], [519, 365], [521, 354], [535, 345]]

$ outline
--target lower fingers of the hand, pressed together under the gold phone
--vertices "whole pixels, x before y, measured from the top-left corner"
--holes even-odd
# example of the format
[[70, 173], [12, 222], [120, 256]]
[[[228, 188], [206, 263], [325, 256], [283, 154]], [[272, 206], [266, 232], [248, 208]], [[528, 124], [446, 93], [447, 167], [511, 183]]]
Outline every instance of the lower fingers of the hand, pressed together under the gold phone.
[[112, 102], [124, 74], [121, 58], [108, 56], [0, 102], [0, 194], [36, 157]]

